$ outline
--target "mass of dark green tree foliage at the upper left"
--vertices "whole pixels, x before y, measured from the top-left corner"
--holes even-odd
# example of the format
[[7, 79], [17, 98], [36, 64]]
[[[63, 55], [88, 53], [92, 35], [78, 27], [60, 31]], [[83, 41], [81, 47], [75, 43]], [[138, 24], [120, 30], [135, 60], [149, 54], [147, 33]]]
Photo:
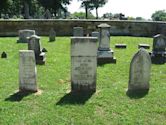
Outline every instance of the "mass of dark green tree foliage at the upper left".
[[8, 14], [10, 18], [40, 18], [46, 9], [51, 13], [67, 12], [66, 5], [71, 0], [0, 0], [0, 15]]

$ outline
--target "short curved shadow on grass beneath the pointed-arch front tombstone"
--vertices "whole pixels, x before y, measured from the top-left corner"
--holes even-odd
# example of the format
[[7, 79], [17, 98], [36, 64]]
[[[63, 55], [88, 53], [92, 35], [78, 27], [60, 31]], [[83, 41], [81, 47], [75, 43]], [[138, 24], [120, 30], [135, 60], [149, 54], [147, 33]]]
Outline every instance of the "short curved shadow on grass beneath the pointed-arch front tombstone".
[[143, 98], [148, 94], [149, 90], [128, 90], [126, 95], [133, 99]]

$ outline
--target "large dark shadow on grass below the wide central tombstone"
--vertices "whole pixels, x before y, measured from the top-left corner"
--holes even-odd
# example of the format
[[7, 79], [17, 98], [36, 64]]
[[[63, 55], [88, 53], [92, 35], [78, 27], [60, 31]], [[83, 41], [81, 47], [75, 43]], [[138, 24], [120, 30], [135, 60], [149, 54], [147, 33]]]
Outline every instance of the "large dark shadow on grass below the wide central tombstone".
[[67, 105], [67, 104], [79, 104], [83, 105], [88, 101], [88, 99], [93, 95], [94, 92], [88, 92], [88, 93], [76, 93], [76, 92], [70, 92], [66, 94], [64, 97], [62, 97], [56, 105]]

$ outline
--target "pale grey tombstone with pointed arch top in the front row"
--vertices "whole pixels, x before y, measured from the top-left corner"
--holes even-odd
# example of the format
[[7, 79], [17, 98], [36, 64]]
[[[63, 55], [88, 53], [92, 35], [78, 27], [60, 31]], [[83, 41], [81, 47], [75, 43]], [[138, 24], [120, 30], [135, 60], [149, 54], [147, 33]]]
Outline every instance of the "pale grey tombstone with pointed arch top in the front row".
[[148, 91], [151, 72], [149, 53], [141, 48], [130, 63], [128, 91]]

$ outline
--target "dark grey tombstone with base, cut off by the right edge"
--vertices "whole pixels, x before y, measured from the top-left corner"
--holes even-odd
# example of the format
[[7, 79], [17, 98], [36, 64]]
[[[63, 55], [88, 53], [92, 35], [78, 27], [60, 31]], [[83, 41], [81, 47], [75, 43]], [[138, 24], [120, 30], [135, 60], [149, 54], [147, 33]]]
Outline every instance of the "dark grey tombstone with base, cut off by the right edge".
[[153, 50], [150, 53], [152, 63], [164, 64], [166, 62], [166, 37], [158, 34], [153, 37]]

